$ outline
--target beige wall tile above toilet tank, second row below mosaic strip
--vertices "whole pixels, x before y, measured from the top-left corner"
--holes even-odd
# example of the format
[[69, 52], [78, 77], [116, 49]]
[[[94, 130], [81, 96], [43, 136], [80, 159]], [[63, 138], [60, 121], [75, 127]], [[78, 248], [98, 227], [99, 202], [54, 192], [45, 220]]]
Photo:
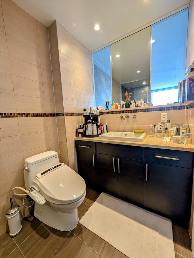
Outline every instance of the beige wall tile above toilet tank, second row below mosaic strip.
[[28, 151], [38, 147], [49, 145], [48, 132], [38, 132], [21, 135], [22, 150]]

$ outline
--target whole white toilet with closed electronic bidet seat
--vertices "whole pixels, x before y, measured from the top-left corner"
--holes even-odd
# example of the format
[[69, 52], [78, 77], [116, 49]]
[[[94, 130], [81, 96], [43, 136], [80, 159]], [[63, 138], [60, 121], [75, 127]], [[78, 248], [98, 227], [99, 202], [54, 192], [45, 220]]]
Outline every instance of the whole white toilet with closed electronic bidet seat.
[[35, 190], [45, 198], [35, 201], [34, 216], [45, 224], [61, 230], [75, 228], [78, 206], [86, 194], [84, 179], [73, 169], [59, 162], [58, 153], [46, 151], [25, 159], [25, 188]]

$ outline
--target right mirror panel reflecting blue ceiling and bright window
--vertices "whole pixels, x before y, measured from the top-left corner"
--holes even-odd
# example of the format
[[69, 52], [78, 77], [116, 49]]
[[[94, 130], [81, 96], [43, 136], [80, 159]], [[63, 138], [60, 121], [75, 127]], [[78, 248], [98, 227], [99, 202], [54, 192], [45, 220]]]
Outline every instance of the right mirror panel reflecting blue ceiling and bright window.
[[153, 105], [179, 101], [178, 83], [185, 76], [187, 25], [188, 8], [152, 25]]

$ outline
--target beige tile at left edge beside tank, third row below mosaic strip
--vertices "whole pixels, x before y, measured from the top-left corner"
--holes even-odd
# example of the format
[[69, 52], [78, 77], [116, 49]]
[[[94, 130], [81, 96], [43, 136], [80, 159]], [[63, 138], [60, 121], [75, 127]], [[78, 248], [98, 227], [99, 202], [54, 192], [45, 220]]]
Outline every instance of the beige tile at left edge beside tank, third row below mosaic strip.
[[1, 177], [12, 174], [24, 168], [23, 153], [16, 153], [0, 159]]

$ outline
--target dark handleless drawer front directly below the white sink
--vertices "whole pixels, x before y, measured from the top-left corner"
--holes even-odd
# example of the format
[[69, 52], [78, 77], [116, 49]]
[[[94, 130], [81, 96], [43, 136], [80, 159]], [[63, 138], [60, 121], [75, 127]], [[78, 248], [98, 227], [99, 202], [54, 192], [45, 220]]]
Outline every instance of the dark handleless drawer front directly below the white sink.
[[119, 156], [123, 158], [131, 158], [143, 160], [143, 148], [136, 146], [126, 146], [118, 144], [96, 143], [96, 152]]

